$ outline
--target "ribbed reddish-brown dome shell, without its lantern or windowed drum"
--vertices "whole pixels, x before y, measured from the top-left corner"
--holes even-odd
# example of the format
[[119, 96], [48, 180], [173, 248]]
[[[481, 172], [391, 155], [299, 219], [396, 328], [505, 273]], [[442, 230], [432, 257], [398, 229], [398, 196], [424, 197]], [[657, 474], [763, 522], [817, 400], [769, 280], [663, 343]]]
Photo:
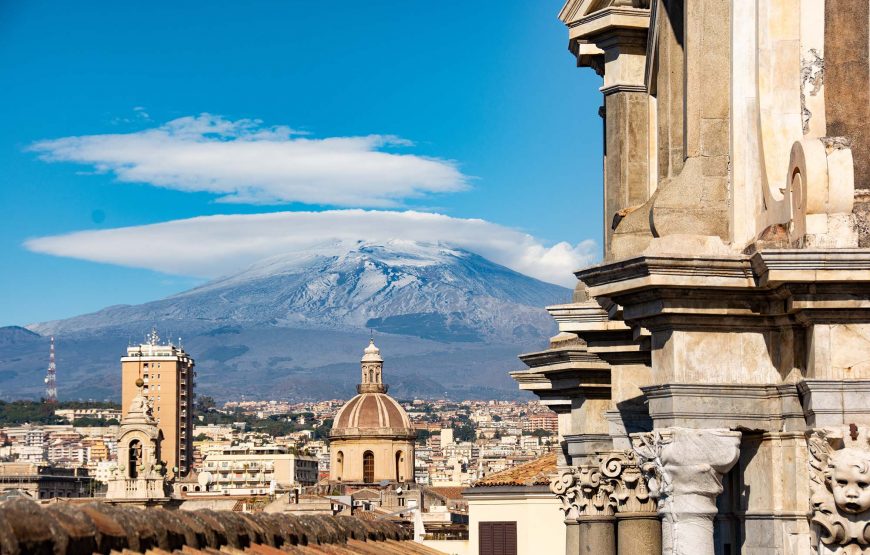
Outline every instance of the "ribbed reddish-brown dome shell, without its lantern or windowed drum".
[[413, 435], [405, 409], [386, 393], [361, 393], [348, 401], [332, 425], [333, 436]]

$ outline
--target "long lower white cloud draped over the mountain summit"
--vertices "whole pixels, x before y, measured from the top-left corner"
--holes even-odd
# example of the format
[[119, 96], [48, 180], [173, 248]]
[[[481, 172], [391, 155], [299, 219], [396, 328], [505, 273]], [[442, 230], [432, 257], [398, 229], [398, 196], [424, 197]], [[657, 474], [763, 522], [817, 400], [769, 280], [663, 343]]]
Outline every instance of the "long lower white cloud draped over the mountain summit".
[[266, 257], [327, 241], [441, 241], [543, 281], [573, 286], [572, 272], [592, 262], [591, 240], [547, 247], [512, 228], [479, 219], [405, 211], [331, 210], [202, 216], [31, 239], [39, 253], [215, 278]]

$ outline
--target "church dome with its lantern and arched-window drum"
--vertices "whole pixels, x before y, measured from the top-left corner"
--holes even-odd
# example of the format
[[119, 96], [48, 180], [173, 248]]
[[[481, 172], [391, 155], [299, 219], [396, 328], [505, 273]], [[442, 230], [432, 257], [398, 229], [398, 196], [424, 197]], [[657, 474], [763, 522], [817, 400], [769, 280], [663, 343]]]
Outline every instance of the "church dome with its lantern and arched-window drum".
[[356, 397], [335, 415], [329, 434], [330, 479], [337, 482], [414, 482], [416, 432], [408, 413], [387, 395], [384, 359], [374, 341], [361, 362]]

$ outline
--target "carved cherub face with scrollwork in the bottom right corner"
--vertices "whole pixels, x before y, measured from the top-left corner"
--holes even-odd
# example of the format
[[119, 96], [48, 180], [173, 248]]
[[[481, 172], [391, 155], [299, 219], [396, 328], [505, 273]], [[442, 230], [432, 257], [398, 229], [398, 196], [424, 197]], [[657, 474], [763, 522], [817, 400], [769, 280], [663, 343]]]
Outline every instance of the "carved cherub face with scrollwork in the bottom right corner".
[[810, 432], [810, 505], [820, 554], [870, 554], [870, 442], [857, 427]]

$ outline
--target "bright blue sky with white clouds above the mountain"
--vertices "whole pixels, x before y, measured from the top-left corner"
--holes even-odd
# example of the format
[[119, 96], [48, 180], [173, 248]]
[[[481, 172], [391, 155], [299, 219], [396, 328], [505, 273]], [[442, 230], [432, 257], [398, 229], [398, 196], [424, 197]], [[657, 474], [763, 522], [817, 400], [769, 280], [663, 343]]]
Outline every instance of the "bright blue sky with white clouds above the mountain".
[[[255, 215], [328, 211], [323, 233], [364, 217], [401, 236], [431, 212], [446, 218], [431, 240], [477, 234], [466, 219], [479, 218], [482, 254], [567, 282], [566, 264], [598, 255], [601, 97], [567, 52], [560, 7], [3, 3], [0, 325], [231, 271], [212, 262], [241, 228], [178, 223], [213, 215], [252, 215], [232, 221], [262, 234]], [[135, 227], [151, 224], [164, 227]], [[182, 241], [193, 227], [208, 241]]]

